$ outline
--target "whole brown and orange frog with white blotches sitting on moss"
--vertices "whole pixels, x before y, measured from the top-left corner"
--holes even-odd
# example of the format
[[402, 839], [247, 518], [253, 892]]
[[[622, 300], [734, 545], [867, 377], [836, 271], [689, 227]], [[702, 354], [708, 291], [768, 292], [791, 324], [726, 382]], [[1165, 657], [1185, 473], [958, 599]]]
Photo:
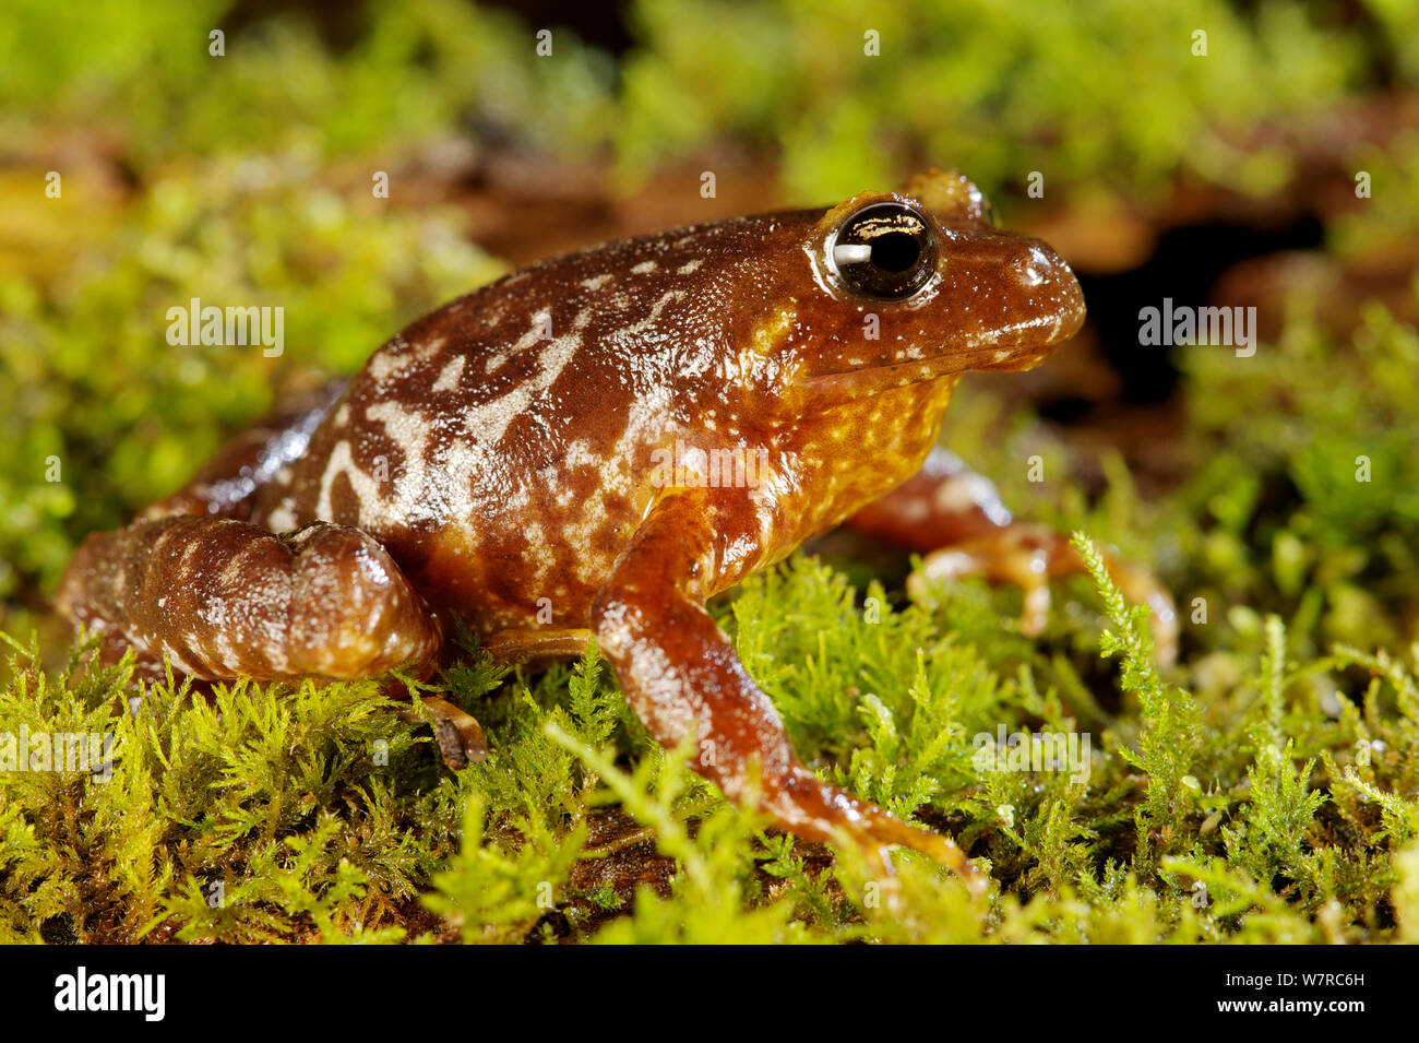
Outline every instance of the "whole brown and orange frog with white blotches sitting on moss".
[[[529, 668], [593, 640], [729, 800], [979, 890], [952, 837], [796, 756], [705, 606], [853, 525], [925, 555], [918, 583], [1020, 585], [1037, 633], [1050, 579], [1083, 563], [938, 430], [964, 373], [1036, 366], [1084, 315], [1069, 264], [955, 170], [595, 245], [450, 301], [237, 434], [91, 534], [57, 606], [111, 654], [210, 683], [429, 675], [455, 633]], [[1166, 592], [1110, 569], [1166, 629]], [[451, 766], [487, 755], [473, 715], [423, 698]]]

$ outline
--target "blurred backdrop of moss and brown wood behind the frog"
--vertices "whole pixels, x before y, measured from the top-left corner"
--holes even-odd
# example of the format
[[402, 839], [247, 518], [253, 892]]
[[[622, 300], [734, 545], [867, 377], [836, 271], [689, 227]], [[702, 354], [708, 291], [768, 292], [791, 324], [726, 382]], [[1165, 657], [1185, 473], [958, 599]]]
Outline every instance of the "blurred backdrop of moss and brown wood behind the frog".
[[[1409, 0], [10, 0], [0, 629], [62, 650], [45, 597], [85, 532], [448, 297], [955, 166], [1076, 267], [1091, 318], [1040, 369], [972, 377], [948, 444], [1022, 512], [1216, 597], [1232, 626], [1189, 637], [1202, 666], [1225, 674], [1208, 657], [1259, 646], [1270, 610], [1297, 651], [1402, 646], [1416, 82]], [[284, 307], [284, 355], [170, 346], [192, 297]], [[1257, 353], [1139, 346], [1165, 297], [1256, 307]], [[1033, 453], [1070, 480], [1027, 482]]]

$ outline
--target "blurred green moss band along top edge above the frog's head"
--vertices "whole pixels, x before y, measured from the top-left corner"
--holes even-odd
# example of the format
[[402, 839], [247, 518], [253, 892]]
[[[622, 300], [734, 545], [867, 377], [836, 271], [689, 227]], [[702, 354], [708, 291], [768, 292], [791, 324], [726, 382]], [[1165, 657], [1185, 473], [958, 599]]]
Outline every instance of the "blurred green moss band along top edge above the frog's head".
[[[1334, 31], [1324, 4], [1243, 14], [1213, 0], [1108, 0], [1081, 14], [996, 0], [870, 11], [641, 0], [646, 47], [626, 62], [617, 146], [640, 169], [727, 132], [782, 142], [783, 176], [810, 202], [890, 182], [921, 156], [949, 158], [988, 194], [1040, 170], [1050, 193], [1138, 197], [1179, 169], [1264, 194], [1291, 158], [1237, 148], [1226, 131], [1314, 112], [1365, 85], [1375, 54], [1409, 54], [1406, 16], [1379, 7], [1388, 17], [1362, 38]], [[731, 18], [736, 31], [718, 33]], [[868, 31], [880, 57], [864, 53]]]

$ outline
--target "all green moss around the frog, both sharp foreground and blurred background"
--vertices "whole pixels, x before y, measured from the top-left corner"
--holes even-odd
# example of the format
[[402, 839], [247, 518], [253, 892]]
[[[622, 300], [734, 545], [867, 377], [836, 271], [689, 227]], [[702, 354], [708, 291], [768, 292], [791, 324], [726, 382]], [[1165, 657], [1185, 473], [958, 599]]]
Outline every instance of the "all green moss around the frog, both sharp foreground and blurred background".
[[[1175, 668], [1084, 578], [1040, 640], [1015, 590], [914, 605], [850, 556], [799, 555], [712, 606], [805, 761], [954, 834], [996, 880], [985, 907], [912, 854], [888, 894], [851, 851], [765, 833], [650, 742], [595, 650], [522, 674], [470, 643], [436, 687], [492, 755], [453, 773], [377, 681], [143, 687], [81, 670], [44, 606], [85, 532], [505, 270], [455, 193], [372, 199], [370, 170], [437, 183], [410, 159], [431, 140], [517, 126], [548, 163], [609, 156], [623, 186], [725, 139], [775, 143], [799, 202], [929, 156], [999, 189], [1007, 219], [1039, 167], [1067, 199], [1175, 176], [1256, 196], [1296, 158], [1243, 158], [1233, 132], [1372, 87], [1376, 57], [1412, 81], [1403, 4], [1349, 33], [1324, 6], [952, 3], [929, 31], [884, 13], [883, 45], [910, 54], [876, 65], [834, 57], [861, 54], [846, 6], [734, 6], [711, 45], [731, 7], [641, 0], [619, 64], [558, 31], [543, 65], [534, 27], [450, 0], [372, 6], [345, 48], [298, 17], [250, 24], [221, 60], [206, 41], [230, 4], [95, 3], [68, 27], [11, 7], [0, 735], [111, 745], [102, 778], [0, 771], [0, 939], [1419, 941], [1419, 338], [1378, 305], [1335, 335], [1298, 299], [1254, 356], [1182, 351], [1185, 477], [1142, 494], [999, 383], [962, 385], [944, 443], [1019, 514], [1154, 563], [1183, 616]], [[1175, 44], [1193, 24], [1216, 64]], [[1357, 156], [1391, 190], [1327, 224], [1335, 255], [1416, 223], [1412, 152]], [[43, 196], [55, 165], [62, 202]], [[165, 309], [192, 297], [281, 304], [284, 356], [167, 345]], [[1087, 735], [1087, 776], [995, 771], [978, 736], [1000, 728]]]

